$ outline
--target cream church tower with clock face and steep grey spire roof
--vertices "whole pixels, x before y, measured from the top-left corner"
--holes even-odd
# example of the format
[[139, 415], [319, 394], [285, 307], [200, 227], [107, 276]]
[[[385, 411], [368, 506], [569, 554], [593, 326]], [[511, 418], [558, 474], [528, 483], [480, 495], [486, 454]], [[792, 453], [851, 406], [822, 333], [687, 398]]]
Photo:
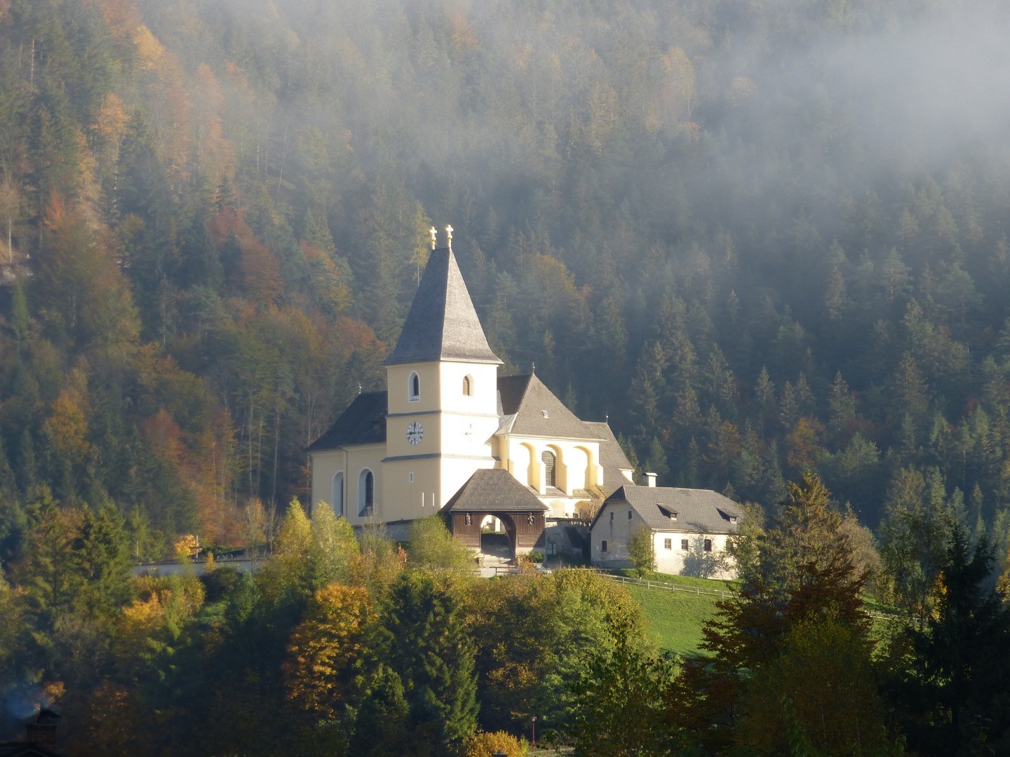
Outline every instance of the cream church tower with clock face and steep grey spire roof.
[[385, 361], [384, 521], [432, 515], [476, 468], [495, 466], [501, 364], [450, 235], [448, 247], [432, 250], [396, 349]]

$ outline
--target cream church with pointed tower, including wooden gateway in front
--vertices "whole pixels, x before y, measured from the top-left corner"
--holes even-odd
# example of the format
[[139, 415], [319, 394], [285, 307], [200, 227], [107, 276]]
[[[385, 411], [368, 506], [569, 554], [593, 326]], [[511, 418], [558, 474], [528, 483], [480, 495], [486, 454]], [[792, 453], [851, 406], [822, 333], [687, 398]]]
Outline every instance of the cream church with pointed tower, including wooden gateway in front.
[[528, 552], [548, 519], [630, 484], [632, 467], [606, 423], [577, 418], [535, 372], [498, 374], [446, 231], [435, 249], [432, 229], [386, 391], [359, 395], [308, 447], [312, 505], [388, 528], [442, 512], [477, 549], [482, 525], [500, 524], [512, 554]]

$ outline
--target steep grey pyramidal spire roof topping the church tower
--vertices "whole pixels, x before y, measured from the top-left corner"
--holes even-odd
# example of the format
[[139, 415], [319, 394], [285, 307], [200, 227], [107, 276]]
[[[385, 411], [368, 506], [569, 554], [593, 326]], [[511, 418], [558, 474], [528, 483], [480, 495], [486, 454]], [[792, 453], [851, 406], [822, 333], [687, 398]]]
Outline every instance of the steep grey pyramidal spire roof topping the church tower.
[[428, 258], [396, 349], [385, 364], [435, 360], [501, 364], [488, 346], [450, 249], [436, 249]]

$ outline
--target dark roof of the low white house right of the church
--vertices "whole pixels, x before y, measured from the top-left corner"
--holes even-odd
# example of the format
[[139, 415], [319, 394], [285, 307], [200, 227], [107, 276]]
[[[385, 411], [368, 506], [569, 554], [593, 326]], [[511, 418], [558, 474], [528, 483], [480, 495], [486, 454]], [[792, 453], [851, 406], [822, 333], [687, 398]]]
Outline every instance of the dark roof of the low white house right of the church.
[[[608, 497], [593, 520], [600, 520], [608, 505], [627, 503], [656, 531], [688, 531], [700, 534], [731, 534], [742, 520], [743, 510], [732, 500], [707, 489], [673, 486], [635, 486], [626, 484]], [[677, 514], [677, 520], [671, 514]]]

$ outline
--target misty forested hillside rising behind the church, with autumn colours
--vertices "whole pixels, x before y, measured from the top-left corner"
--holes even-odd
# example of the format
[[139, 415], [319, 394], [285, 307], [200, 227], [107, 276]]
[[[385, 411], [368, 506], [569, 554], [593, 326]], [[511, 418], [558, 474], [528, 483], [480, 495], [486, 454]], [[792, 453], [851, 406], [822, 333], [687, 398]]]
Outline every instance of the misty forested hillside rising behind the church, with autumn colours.
[[508, 367], [661, 482], [769, 507], [815, 469], [882, 533], [946, 512], [1005, 553], [1007, 21], [3, 0], [5, 554], [43, 486], [141, 557], [262, 540], [383, 386], [432, 223]]

